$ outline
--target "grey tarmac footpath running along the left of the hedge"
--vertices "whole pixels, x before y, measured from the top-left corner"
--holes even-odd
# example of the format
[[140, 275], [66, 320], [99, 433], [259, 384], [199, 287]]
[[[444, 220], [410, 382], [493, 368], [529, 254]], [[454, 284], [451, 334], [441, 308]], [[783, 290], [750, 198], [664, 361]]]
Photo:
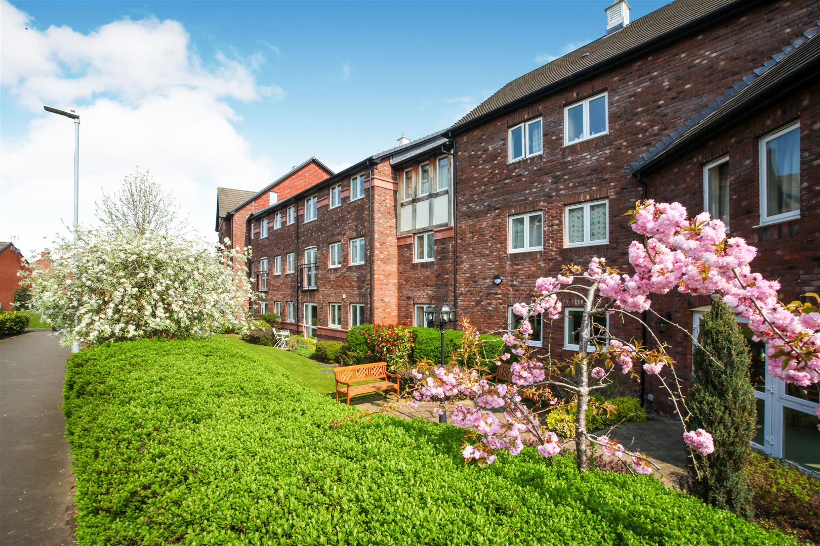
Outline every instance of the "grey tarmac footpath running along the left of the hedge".
[[62, 415], [69, 351], [50, 330], [0, 340], [0, 543], [76, 544]]

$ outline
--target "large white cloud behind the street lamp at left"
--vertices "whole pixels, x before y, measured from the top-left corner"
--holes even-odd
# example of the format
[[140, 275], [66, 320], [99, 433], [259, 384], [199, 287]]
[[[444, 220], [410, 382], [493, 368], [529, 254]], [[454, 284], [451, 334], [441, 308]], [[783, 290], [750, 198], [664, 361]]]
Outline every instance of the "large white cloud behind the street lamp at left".
[[252, 156], [224, 102], [284, 94], [256, 82], [259, 55], [206, 63], [175, 21], [119, 20], [81, 34], [34, 29], [8, 2], [0, 9], [2, 86], [32, 112], [20, 138], [0, 142], [0, 201], [15, 204], [0, 216], [0, 239], [16, 234], [18, 246], [37, 250], [71, 222], [74, 129], [43, 104], [80, 114], [80, 223], [92, 223], [101, 187], [116, 189], [139, 165], [215, 240], [216, 187], [257, 189], [273, 178], [271, 158]]

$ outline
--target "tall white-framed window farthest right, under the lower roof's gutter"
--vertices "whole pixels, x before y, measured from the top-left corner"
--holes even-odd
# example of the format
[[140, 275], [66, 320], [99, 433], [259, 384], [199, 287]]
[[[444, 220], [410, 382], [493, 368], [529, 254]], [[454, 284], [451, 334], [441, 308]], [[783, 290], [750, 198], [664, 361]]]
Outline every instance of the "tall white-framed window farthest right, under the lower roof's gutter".
[[760, 139], [760, 223], [800, 216], [800, 124]]

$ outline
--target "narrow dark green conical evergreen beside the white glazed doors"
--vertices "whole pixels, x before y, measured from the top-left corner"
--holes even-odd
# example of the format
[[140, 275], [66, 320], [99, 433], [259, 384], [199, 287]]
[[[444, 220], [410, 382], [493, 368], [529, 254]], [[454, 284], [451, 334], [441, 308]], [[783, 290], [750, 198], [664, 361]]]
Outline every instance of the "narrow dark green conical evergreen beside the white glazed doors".
[[694, 453], [700, 472], [690, 463], [692, 491], [707, 503], [747, 519], [754, 515], [747, 467], [757, 422], [755, 403], [749, 347], [735, 314], [715, 299], [700, 322], [686, 402], [691, 413], [687, 428], [709, 431], [715, 451], [708, 457]]

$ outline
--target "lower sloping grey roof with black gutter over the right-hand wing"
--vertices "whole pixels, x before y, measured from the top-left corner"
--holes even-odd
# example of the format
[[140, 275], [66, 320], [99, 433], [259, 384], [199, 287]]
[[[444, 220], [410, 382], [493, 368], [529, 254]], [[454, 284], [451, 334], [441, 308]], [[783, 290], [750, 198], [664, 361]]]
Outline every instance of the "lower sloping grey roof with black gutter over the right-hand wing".
[[806, 79], [818, 81], [820, 77], [820, 21], [806, 30], [783, 50], [763, 63], [763, 66], [734, 83], [720, 97], [706, 106], [686, 124], [681, 125], [661, 142], [649, 148], [626, 168], [630, 174], [654, 169], [666, 160], [696, 146], [704, 138], [723, 133], [727, 127], [737, 124], [749, 115], [762, 111], [795, 85]]

